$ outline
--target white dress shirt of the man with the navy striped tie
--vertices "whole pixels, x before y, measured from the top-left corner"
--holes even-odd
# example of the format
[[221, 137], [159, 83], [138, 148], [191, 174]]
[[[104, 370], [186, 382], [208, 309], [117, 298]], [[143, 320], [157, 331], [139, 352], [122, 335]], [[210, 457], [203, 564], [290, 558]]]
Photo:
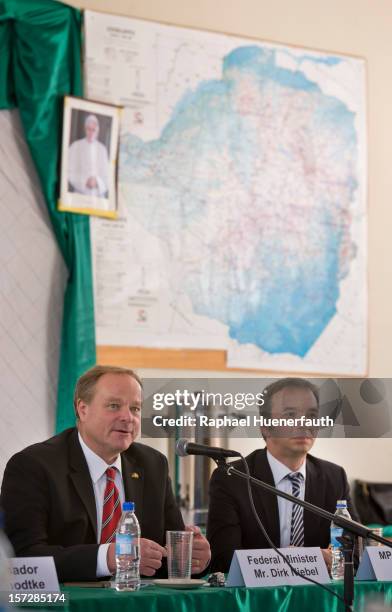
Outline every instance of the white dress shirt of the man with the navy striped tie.
[[[303, 481], [301, 483], [299, 498], [305, 498], [305, 481], [306, 481], [306, 459], [304, 460], [301, 467], [293, 472], [287, 465], [281, 463], [271, 453], [267, 450], [267, 459], [270, 465], [272, 476], [274, 478], [275, 487], [280, 491], [284, 491], [285, 493], [293, 494], [292, 484], [289, 478], [287, 478], [288, 474], [294, 474], [299, 472], [303, 476]], [[279, 524], [280, 524], [280, 547], [285, 548], [286, 546], [290, 546], [290, 536], [291, 536], [291, 513], [292, 513], [292, 502], [289, 502], [287, 499], [283, 499], [283, 497], [278, 497], [278, 510], [279, 510]]]

